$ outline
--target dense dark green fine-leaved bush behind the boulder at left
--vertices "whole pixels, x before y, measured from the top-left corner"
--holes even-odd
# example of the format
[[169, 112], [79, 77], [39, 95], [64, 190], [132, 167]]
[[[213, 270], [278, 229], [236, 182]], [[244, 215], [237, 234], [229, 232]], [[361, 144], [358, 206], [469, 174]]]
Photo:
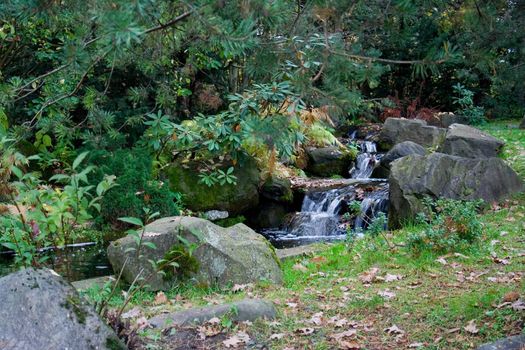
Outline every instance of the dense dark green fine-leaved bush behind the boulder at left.
[[153, 160], [147, 151], [139, 148], [98, 151], [91, 162], [97, 165], [98, 176], [117, 177], [117, 186], [101, 202], [99, 223], [116, 224], [119, 217], [141, 217], [145, 207], [161, 216], [179, 214], [180, 195], [153, 177]]

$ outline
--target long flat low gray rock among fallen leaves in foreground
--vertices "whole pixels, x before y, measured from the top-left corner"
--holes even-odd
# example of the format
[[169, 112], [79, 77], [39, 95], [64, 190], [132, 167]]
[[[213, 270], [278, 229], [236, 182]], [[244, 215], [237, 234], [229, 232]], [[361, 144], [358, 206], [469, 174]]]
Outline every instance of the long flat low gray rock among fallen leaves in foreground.
[[214, 317], [228, 318], [235, 322], [255, 321], [260, 318], [273, 320], [276, 316], [273, 303], [261, 299], [244, 299], [229, 304], [192, 308], [185, 311], [162, 314], [148, 320], [155, 328], [202, 324]]

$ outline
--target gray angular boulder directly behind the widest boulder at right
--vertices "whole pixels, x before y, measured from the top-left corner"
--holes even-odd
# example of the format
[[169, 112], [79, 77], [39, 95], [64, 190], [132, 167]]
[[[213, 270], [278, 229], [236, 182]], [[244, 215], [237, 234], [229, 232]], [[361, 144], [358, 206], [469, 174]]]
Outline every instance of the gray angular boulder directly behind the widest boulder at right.
[[440, 151], [458, 157], [496, 157], [505, 143], [476, 128], [463, 124], [452, 124], [447, 131]]

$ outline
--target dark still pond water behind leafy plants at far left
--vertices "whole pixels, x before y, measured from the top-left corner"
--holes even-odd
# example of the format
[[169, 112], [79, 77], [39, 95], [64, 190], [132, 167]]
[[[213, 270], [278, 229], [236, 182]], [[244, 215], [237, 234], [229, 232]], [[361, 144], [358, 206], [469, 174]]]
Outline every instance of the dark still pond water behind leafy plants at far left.
[[[103, 245], [91, 244], [42, 254], [49, 257], [48, 266], [70, 282], [113, 274]], [[66, 259], [71, 261], [69, 271], [66, 269]], [[13, 255], [7, 252], [0, 253], [0, 276], [15, 270]]]

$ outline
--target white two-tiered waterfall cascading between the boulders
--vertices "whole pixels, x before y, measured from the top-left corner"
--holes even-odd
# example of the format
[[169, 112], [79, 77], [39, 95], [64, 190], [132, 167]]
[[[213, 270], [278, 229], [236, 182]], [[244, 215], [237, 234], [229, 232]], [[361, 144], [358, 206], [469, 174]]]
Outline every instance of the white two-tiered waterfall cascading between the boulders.
[[[355, 135], [351, 134], [351, 139], [355, 139]], [[357, 142], [360, 152], [349, 174], [351, 178], [363, 181], [360, 184], [308, 192], [301, 210], [294, 213], [283, 227], [262, 232], [274, 246], [286, 248], [341, 240], [347, 237], [349, 230], [362, 234], [379, 213], [387, 213], [388, 184], [384, 179], [370, 179], [382, 154], [377, 152], [376, 144], [372, 141]], [[354, 201], [360, 202], [359, 214], [344, 220], [343, 215]]]

